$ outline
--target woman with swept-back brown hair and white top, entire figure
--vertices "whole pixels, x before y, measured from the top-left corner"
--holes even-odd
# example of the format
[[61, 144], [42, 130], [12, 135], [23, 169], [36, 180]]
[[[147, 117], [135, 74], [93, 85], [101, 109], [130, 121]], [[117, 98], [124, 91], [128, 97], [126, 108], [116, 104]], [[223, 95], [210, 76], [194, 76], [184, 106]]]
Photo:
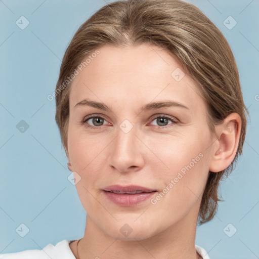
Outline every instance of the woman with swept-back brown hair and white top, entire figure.
[[227, 40], [180, 0], [106, 5], [68, 46], [55, 91], [84, 236], [0, 258], [203, 258], [245, 105]]

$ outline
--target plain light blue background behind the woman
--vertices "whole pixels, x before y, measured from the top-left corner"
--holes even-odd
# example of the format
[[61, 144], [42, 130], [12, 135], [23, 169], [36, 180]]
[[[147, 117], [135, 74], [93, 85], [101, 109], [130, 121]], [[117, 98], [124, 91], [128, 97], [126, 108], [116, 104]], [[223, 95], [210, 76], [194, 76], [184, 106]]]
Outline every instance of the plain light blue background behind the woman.
[[[192, 0], [226, 36], [235, 55], [243, 97], [250, 112], [247, 136], [235, 170], [221, 186], [225, 199], [217, 217], [197, 228], [196, 244], [210, 258], [259, 256], [259, 2]], [[55, 91], [61, 60], [77, 28], [107, 2], [104, 0], [0, 2], [0, 253], [42, 249], [83, 236], [86, 213], [55, 122]], [[29, 25], [21, 30], [16, 21]], [[232, 16], [237, 25], [228, 29]], [[257, 96], [258, 97], [258, 96]], [[21, 133], [16, 125], [25, 120]], [[21, 122], [22, 123], [22, 122]], [[20, 224], [29, 228], [17, 234]], [[231, 223], [228, 237], [225, 227]]]

